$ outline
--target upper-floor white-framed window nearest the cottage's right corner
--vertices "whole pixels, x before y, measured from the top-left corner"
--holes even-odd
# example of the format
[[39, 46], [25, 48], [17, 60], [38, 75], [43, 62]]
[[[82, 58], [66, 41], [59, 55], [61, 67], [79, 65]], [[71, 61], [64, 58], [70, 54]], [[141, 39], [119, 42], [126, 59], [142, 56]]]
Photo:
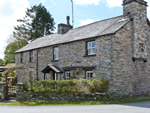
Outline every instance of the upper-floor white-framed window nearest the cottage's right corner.
[[87, 54], [95, 55], [95, 41], [87, 42]]

